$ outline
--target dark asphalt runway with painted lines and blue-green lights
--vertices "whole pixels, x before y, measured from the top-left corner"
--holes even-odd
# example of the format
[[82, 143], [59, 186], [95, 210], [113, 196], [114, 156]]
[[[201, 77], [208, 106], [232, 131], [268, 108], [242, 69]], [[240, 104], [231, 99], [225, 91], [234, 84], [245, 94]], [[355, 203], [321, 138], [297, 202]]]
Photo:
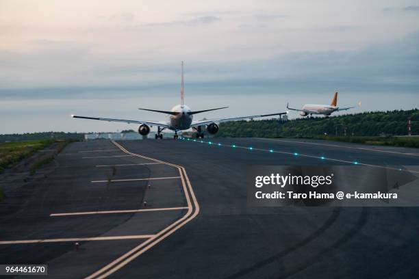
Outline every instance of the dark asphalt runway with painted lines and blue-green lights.
[[48, 263], [49, 275], [62, 278], [419, 276], [416, 207], [246, 205], [250, 165], [399, 168], [418, 165], [416, 149], [296, 139], [93, 141], [71, 144], [57, 161], [47, 178], [1, 205], [0, 241], [9, 241], [0, 245], [1, 262]]

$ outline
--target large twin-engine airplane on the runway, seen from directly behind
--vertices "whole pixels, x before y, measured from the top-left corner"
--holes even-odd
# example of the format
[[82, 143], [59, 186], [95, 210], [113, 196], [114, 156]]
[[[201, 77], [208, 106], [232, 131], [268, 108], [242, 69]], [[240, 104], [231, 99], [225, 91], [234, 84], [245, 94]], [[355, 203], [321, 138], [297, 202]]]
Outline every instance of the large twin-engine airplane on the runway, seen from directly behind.
[[176, 105], [170, 111], [162, 111], [157, 109], [144, 109], [139, 108], [145, 111], [154, 111], [160, 114], [168, 114], [169, 121], [146, 121], [146, 120], [125, 120], [125, 119], [114, 119], [114, 118], [101, 118], [101, 117], [88, 117], [88, 116], [75, 116], [73, 118], [84, 118], [90, 120], [103, 120], [109, 122], [125, 122], [128, 124], [135, 123], [140, 124], [138, 127], [138, 133], [140, 135], [148, 135], [150, 133], [150, 127], [157, 126], [157, 134], [155, 134], [155, 139], [162, 139], [162, 131], [164, 129], [175, 131], [173, 138], [177, 139], [178, 131], [188, 130], [192, 128], [196, 132], [196, 138], [204, 137], [204, 129], [210, 134], [215, 134], [218, 132], [218, 124], [221, 122], [229, 122], [236, 120], [244, 119], [253, 119], [253, 118], [262, 118], [266, 116], [281, 116], [283, 114], [288, 114], [287, 112], [280, 112], [277, 114], [259, 114], [255, 116], [239, 116], [234, 118], [218, 118], [212, 120], [193, 120], [195, 114], [201, 114], [206, 111], [214, 111], [217, 109], [226, 109], [227, 107], [217, 107], [215, 109], [204, 109], [199, 111], [192, 111], [187, 105], [183, 103], [183, 61], [181, 62], [181, 104]]

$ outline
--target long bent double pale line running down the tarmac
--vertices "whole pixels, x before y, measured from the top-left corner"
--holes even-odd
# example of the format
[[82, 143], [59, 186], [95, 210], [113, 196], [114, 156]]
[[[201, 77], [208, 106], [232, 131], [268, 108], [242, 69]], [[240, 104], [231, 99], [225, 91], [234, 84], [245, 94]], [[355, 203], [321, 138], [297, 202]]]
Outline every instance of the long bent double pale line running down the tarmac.
[[[101, 267], [101, 269], [97, 270], [93, 274], [90, 274], [90, 276], [87, 276], [86, 279], [92, 279], [92, 278], [106, 278], [107, 276], [110, 276], [111, 274], [114, 274], [114, 272], [118, 271], [120, 268], [127, 265], [129, 262], [133, 261], [135, 258], [146, 252], [147, 250], [153, 248], [154, 245], [157, 245], [157, 243], [160, 243], [160, 241], [164, 240], [169, 235], [175, 233], [176, 230], [179, 230], [182, 226], [190, 222], [191, 220], [196, 217], [196, 215], [199, 214], [199, 204], [196, 200], [196, 196], [194, 194], [194, 190], [192, 189], [192, 185], [190, 184], [188, 174], [186, 173], [185, 168], [183, 168], [181, 165], [175, 165], [173, 163], [168, 163], [165, 161], [160, 161], [157, 159], [153, 159], [150, 157], [138, 155], [136, 153], [129, 152], [127, 149], [125, 149], [123, 146], [112, 140], [112, 143], [118, 146], [123, 152], [127, 154], [134, 155], [136, 157], [141, 157], [144, 159], [149, 159], [151, 161], [156, 161], [160, 163], [164, 163], [166, 165], [173, 166], [174, 168], [177, 168], [179, 170], [179, 174], [181, 176], [181, 183], [183, 187], [183, 191], [186, 197], [186, 202], [188, 204], [188, 212], [183, 215], [180, 219], [176, 220], [166, 228], [162, 229], [159, 233], [155, 235], [155, 237], [152, 237], [150, 239], [147, 239], [137, 247], [133, 248], [129, 252], [123, 254], [122, 256], [116, 258], [112, 263], [109, 263], [105, 265], [104, 267]], [[192, 206], [192, 202], [193, 206]]]

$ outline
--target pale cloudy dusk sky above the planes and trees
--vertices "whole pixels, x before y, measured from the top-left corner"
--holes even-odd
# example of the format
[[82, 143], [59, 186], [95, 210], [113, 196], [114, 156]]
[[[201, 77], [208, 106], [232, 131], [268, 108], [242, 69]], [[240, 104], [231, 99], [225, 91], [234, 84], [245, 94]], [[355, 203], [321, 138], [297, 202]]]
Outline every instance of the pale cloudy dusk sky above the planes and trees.
[[[419, 1], [0, 1], [0, 134], [120, 131], [138, 107], [419, 107]], [[298, 114], [291, 113], [290, 117]]]

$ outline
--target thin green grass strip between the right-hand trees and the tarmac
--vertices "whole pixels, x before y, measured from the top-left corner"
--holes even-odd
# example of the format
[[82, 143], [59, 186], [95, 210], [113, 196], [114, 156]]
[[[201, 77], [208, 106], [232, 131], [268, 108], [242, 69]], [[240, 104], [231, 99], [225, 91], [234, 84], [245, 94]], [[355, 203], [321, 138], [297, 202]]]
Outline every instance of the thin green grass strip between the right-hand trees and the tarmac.
[[383, 146], [403, 146], [419, 148], [419, 137], [363, 137], [363, 136], [335, 136], [319, 135], [305, 137], [311, 139], [326, 139], [337, 142], [353, 142], [357, 144], [372, 144]]

